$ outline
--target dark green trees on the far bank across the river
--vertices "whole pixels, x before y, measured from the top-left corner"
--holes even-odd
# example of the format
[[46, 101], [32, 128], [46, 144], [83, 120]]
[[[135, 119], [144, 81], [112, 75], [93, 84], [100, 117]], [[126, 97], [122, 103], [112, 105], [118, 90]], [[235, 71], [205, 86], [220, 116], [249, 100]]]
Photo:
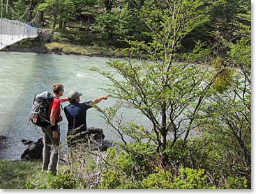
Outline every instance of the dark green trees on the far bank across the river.
[[[163, 6], [168, 3], [167, 1], [153, 2]], [[177, 3], [178, 1], [172, 2]], [[110, 46], [127, 47], [128, 45], [123, 42], [124, 39], [151, 41], [151, 37], [148, 35], [149, 26], [146, 26], [136, 14], [147, 3], [145, 0], [9, 0], [9, 3], [15, 4], [15, 10], [21, 15], [27, 6], [40, 10], [40, 22], [45, 17], [51, 27], [59, 28], [62, 31], [66, 30], [68, 22], [90, 18], [93, 23], [93, 33], [100, 34], [100, 38]], [[181, 41], [182, 47], [179, 52], [191, 51], [195, 47], [195, 42], [201, 40], [208, 44], [214, 43], [212, 47], [214, 54], [217, 52], [220, 54], [222, 51], [225, 55], [228, 48], [218, 38], [222, 36], [231, 42], [239, 39], [234, 26], [238, 19], [236, 15], [244, 13], [245, 7], [250, 7], [250, 1], [218, 0], [200, 3], [202, 8], [213, 4], [216, 6], [209, 12], [208, 21], [204, 22], [201, 28], [195, 28], [186, 34]], [[82, 22], [80, 23], [82, 24]]]

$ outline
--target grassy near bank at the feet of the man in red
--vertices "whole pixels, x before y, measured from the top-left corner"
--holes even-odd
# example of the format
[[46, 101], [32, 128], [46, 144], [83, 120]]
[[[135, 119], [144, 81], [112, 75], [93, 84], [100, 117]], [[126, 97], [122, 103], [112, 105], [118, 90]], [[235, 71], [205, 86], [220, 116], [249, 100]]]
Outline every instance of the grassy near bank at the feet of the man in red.
[[[47, 189], [72, 186], [69, 175], [54, 176], [42, 171], [41, 167], [40, 161], [0, 160], [0, 189]], [[66, 165], [59, 165], [61, 173], [66, 169]]]

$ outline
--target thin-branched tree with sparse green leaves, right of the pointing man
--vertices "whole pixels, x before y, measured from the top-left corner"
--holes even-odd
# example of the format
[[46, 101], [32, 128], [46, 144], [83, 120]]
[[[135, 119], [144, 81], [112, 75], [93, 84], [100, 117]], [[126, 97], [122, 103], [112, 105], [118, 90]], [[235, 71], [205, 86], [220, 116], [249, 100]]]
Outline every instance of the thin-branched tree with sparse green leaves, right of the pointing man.
[[[181, 40], [193, 29], [199, 28], [209, 17], [207, 13], [211, 6], [205, 6], [202, 1], [145, 1], [137, 16], [151, 30], [152, 42], [129, 41], [126, 62], [112, 60], [108, 65], [122, 79], [116, 79], [115, 74], [100, 72], [112, 82], [112, 87], [106, 89], [113, 97], [124, 99], [139, 109], [151, 122], [152, 131], [145, 129], [144, 134], [154, 134], [151, 137], [156, 144], [156, 152], [160, 154], [163, 167], [167, 162], [175, 165], [180, 161], [172, 161], [174, 145], [178, 140], [180, 152], [186, 149], [190, 132], [197, 126], [194, 124], [208, 90], [223, 70], [220, 68], [215, 74], [207, 67], [193, 65], [195, 59], [209, 53], [209, 49], [202, 49], [198, 43], [195, 49], [186, 54], [186, 63], [175, 63], [174, 59]], [[213, 5], [212, 5], [213, 6]], [[140, 58], [135, 60], [133, 58]], [[143, 60], [142, 58], [146, 58]], [[209, 73], [208, 73], [209, 72]], [[120, 108], [120, 106], [116, 106]], [[113, 124], [116, 110], [107, 110], [107, 122]], [[123, 134], [131, 135], [119, 123], [115, 127], [124, 140]], [[133, 131], [134, 133], [136, 131]], [[141, 135], [137, 128], [137, 135]], [[147, 136], [149, 138], [149, 136]]]

